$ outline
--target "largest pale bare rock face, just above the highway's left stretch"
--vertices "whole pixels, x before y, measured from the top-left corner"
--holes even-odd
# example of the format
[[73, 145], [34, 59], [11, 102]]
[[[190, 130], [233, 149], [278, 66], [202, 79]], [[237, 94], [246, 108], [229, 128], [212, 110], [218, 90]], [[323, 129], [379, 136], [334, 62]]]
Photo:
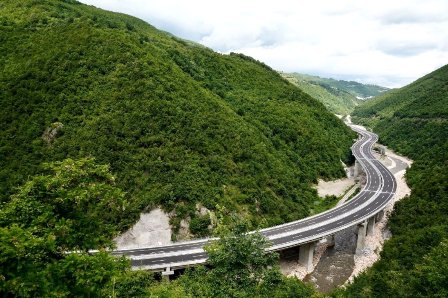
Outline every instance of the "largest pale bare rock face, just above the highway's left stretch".
[[115, 238], [118, 249], [131, 249], [171, 243], [171, 227], [168, 214], [156, 208], [142, 213], [138, 222]]

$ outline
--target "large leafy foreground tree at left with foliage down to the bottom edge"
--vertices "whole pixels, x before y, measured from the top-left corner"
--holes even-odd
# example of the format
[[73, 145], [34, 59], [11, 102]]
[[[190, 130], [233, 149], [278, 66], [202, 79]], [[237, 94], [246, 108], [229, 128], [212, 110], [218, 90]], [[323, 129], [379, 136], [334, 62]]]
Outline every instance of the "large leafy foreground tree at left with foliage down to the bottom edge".
[[112, 246], [125, 194], [92, 158], [44, 168], [0, 210], [0, 296], [100, 296], [130, 264], [87, 250]]

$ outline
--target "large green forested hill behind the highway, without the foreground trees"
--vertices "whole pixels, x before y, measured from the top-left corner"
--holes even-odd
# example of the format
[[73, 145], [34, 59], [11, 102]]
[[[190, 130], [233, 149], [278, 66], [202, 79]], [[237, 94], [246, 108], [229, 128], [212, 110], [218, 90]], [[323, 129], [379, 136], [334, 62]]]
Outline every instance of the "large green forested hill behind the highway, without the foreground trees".
[[1, 201], [43, 162], [93, 157], [127, 193], [118, 230], [161, 205], [202, 235], [200, 205], [279, 224], [344, 175], [353, 133], [250, 57], [68, 0], [2, 1], [0, 52]]

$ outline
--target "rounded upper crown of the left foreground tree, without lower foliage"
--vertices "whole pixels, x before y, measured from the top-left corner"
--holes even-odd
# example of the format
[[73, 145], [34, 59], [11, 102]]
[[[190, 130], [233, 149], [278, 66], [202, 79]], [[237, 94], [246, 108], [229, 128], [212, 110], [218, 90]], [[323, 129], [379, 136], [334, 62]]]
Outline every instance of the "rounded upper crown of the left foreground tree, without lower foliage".
[[112, 246], [115, 223], [127, 202], [109, 167], [96, 165], [93, 158], [43, 167], [47, 175], [32, 177], [3, 206], [0, 226], [15, 224], [37, 237], [52, 235], [59, 252]]

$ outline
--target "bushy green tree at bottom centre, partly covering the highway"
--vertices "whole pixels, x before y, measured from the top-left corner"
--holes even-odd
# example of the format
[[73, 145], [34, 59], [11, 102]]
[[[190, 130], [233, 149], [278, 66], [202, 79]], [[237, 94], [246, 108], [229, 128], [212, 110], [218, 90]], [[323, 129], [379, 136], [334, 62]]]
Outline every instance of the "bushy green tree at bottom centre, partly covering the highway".
[[[259, 233], [244, 234], [247, 225], [234, 218], [234, 227], [205, 248], [207, 268], [197, 267], [171, 283], [151, 289], [163, 297], [311, 297], [311, 285], [284, 277], [278, 255], [266, 252], [269, 243]], [[228, 230], [228, 229], [226, 229]]]

